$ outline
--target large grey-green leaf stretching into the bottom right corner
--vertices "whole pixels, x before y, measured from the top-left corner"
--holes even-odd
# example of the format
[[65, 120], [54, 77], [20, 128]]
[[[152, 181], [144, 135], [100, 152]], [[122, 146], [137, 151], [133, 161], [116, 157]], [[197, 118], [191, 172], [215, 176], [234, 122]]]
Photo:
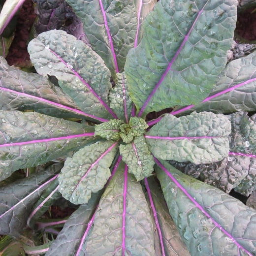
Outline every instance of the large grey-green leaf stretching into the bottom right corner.
[[256, 254], [256, 211], [156, 160], [169, 212], [192, 256]]

